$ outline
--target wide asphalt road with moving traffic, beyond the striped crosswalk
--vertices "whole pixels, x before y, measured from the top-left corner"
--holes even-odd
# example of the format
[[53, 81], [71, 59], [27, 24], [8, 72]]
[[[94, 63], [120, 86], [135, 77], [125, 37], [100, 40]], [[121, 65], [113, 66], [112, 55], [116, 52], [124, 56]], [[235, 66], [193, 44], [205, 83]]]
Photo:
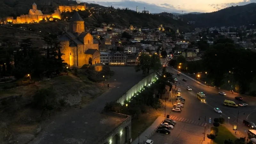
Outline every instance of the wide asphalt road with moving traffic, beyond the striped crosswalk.
[[[163, 59], [161, 60], [164, 61]], [[164, 63], [163, 63], [164, 64]], [[177, 72], [174, 71], [172, 68], [167, 66], [167, 71], [173, 72], [173, 78], [176, 78]], [[187, 81], [182, 81], [183, 78], [186, 78]], [[235, 100], [235, 97], [237, 95], [227, 93], [227, 95], [223, 96], [218, 94], [218, 90], [208, 88], [205, 86], [202, 86], [200, 84], [197, 84], [193, 80], [180, 75], [177, 76], [178, 82], [177, 82], [177, 89], [181, 89], [181, 95], [185, 97], [186, 101], [184, 104], [184, 108], [182, 108], [182, 112], [167, 112], [171, 116], [179, 116], [187, 119], [197, 120], [199, 116], [206, 116], [206, 123], [209, 122], [209, 119], [212, 118], [212, 122], [214, 118], [224, 117], [226, 119], [226, 123], [228, 123], [228, 117], [229, 124], [236, 124], [237, 120], [237, 113], [238, 110], [239, 116], [238, 116], [238, 130], [248, 130], [249, 128], [243, 125], [243, 120], [247, 119], [248, 121], [252, 121], [256, 123], [256, 99], [250, 98], [250, 97], [243, 97], [243, 101]], [[192, 91], [187, 91], [186, 87], [189, 86], [192, 88]], [[173, 86], [175, 88], [175, 86]], [[201, 102], [197, 99], [196, 93], [197, 92], [204, 92], [206, 94], [206, 101]], [[238, 107], [238, 108], [232, 108], [227, 107], [223, 105], [224, 100], [232, 100], [236, 102], [236, 104], [239, 104], [241, 102], [247, 103], [248, 107]], [[213, 108], [220, 108], [222, 111], [222, 114], [216, 113]], [[245, 113], [245, 114], [244, 114]], [[200, 118], [200, 121], [204, 121], [203, 118]], [[235, 122], [234, 122], [235, 121]]]

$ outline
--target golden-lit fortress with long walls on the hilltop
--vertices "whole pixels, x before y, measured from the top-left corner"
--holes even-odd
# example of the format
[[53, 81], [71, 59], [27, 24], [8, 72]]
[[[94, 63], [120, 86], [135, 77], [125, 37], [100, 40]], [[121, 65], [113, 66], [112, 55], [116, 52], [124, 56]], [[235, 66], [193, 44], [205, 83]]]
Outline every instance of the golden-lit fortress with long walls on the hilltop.
[[67, 11], [85, 11], [86, 4], [81, 3], [83, 5], [73, 5], [73, 6], [59, 6], [57, 10], [54, 11], [52, 14], [43, 14], [42, 11], [37, 10], [37, 5], [34, 3], [32, 4], [32, 9], [29, 10], [28, 14], [21, 15], [17, 17], [17, 19], [13, 19], [13, 17], [5, 17], [4, 18], [4, 24], [7, 22], [11, 23], [32, 23], [32, 22], [39, 22], [40, 20], [46, 20], [47, 18], [49, 20], [53, 20], [53, 18], [61, 19], [61, 12], [67, 12]]

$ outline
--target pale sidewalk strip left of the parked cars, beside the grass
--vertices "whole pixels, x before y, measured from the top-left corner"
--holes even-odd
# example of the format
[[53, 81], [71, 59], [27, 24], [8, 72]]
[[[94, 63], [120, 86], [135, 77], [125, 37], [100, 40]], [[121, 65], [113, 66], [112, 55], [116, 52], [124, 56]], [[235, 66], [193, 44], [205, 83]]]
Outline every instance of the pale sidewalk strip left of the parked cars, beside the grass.
[[[159, 124], [164, 120], [164, 116], [158, 116], [155, 122], [150, 125], [144, 132], [140, 134], [140, 144], [144, 144], [146, 140], [148, 140], [156, 131]], [[132, 144], [138, 144], [139, 137], [132, 141]]]

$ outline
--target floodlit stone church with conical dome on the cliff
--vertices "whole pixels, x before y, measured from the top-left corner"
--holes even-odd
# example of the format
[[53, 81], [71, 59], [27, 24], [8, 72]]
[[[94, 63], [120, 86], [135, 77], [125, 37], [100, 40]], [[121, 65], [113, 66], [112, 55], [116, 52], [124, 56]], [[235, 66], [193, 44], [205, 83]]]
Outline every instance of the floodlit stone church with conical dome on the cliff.
[[69, 31], [59, 38], [62, 59], [70, 67], [82, 67], [84, 64], [100, 63], [99, 44], [90, 33], [84, 31], [84, 20], [74, 12], [69, 23]]

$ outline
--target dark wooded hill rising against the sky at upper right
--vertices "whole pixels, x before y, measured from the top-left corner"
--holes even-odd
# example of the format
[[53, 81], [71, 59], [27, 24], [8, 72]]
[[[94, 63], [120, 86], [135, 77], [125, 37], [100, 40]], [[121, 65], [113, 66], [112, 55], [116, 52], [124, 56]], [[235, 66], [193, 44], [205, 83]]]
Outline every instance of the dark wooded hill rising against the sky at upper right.
[[197, 27], [241, 26], [256, 22], [256, 3], [231, 6], [217, 12], [183, 15], [184, 21], [196, 21]]

